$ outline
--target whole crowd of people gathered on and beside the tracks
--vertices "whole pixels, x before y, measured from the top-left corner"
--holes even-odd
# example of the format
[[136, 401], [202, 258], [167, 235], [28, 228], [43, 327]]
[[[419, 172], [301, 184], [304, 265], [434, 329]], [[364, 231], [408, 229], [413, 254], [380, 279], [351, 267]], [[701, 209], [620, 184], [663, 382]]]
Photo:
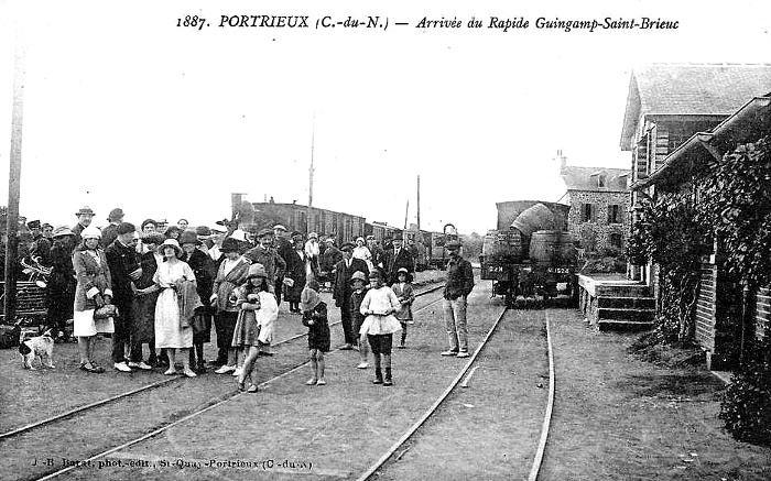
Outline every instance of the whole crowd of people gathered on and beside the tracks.
[[[84, 207], [75, 226], [28, 226], [34, 262], [50, 271], [47, 324], [66, 341], [77, 340], [80, 369], [100, 373], [94, 357], [98, 334], [111, 336], [111, 361], [120, 372], [165, 369], [188, 378], [205, 372], [237, 378], [238, 389], [257, 392], [256, 360], [273, 356], [271, 343], [282, 299], [289, 313], [308, 328], [311, 385], [324, 385], [324, 353], [330, 350], [327, 305], [319, 296], [332, 292], [340, 309], [345, 343], [358, 349], [359, 369], [374, 363], [374, 383], [392, 385], [391, 347], [406, 345], [415, 299], [411, 280], [415, 256], [393, 239], [380, 247], [373, 237], [337, 245], [334, 237], [287, 232], [281, 225], [262, 229], [252, 239], [225, 222], [193, 228], [186, 219], [163, 232], [146, 219], [124, 221], [120, 208], [109, 225], [93, 226], [94, 211]], [[466, 297], [474, 286], [468, 261], [449, 242], [444, 315], [449, 349], [443, 356], [468, 356]], [[204, 359], [204, 345], [216, 332], [217, 358]], [[145, 348], [146, 347], [146, 348]]]

